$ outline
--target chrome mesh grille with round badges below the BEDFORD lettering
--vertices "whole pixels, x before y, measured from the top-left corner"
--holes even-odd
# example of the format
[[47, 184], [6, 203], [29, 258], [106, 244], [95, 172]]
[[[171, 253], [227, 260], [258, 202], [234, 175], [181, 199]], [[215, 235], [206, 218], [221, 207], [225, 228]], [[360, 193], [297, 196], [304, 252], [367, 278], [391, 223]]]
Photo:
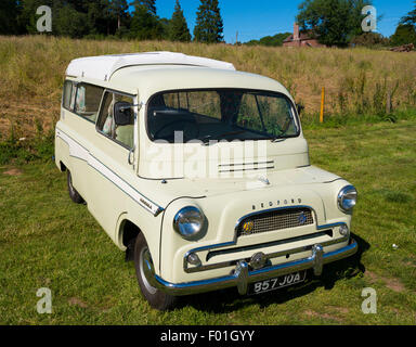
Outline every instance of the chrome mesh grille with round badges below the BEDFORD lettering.
[[[249, 226], [250, 222], [252, 223], [251, 226]], [[237, 227], [237, 236], [308, 224], [313, 224], [313, 216], [309, 208], [277, 209], [243, 219]]]

